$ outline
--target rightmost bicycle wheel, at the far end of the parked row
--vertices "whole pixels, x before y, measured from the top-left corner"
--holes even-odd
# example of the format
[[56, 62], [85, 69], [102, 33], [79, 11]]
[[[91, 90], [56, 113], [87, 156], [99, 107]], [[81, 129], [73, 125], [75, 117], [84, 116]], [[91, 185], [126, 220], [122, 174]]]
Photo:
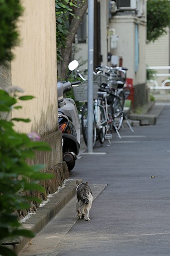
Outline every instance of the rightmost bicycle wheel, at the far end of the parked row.
[[112, 105], [112, 117], [113, 117], [113, 127], [116, 130], [121, 128], [123, 122], [123, 107], [125, 102], [125, 95], [123, 91], [120, 91], [118, 97], [113, 101]]

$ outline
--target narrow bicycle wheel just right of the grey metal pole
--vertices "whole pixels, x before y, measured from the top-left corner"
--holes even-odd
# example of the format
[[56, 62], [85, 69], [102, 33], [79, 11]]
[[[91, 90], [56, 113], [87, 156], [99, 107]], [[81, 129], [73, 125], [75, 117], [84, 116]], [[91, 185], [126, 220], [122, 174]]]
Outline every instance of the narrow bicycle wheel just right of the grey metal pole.
[[98, 128], [99, 141], [101, 144], [103, 144], [105, 140], [105, 134], [106, 134], [106, 118], [105, 118], [103, 108], [101, 106], [98, 106], [98, 107], [99, 107], [99, 115], [96, 123]]

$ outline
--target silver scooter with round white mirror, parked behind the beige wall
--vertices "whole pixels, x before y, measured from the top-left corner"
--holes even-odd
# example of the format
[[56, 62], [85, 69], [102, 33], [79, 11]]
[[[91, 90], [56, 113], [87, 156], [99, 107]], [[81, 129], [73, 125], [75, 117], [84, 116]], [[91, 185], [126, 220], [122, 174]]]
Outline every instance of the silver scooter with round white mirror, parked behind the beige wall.
[[78, 61], [74, 60], [68, 65], [69, 72], [66, 81], [57, 83], [58, 90], [58, 117], [59, 130], [62, 131], [63, 161], [71, 171], [77, 159], [80, 148], [80, 120], [75, 101], [64, 97], [64, 93], [71, 91], [72, 86], [77, 86], [80, 81], [69, 82], [68, 76], [78, 67]]

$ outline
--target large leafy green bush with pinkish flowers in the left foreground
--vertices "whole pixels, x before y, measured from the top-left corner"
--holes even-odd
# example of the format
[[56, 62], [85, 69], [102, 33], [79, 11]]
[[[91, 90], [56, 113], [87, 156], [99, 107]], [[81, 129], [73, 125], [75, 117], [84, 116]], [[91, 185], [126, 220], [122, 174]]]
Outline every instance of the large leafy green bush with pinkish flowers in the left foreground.
[[[33, 237], [33, 232], [23, 229], [18, 221], [16, 210], [30, 208], [30, 201], [41, 201], [28, 196], [29, 191], [43, 192], [39, 180], [52, 178], [51, 174], [41, 172], [44, 165], [28, 165], [26, 160], [35, 157], [35, 151], [47, 151], [50, 147], [35, 134], [26, 135], [14, 130], [14, 121], [28, 119], [7, 119], [9, 112], [15, 108], [18, 101], [26, 101], [32, 96], [17, 97], [12, 89], [12, 95], [0, 90], [0, 255], [15, 255], [3, 246], [3, 241], [16, 236]], [[18, 109], [21, 107], [19, 106]], [[6, 118], [4, 118], [6, 116]]]

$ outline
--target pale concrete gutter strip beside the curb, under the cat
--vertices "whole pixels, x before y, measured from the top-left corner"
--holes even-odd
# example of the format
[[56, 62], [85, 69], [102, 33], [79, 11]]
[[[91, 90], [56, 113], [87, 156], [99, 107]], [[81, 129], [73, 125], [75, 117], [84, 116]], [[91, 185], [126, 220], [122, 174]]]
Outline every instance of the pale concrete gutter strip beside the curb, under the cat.
[[[106, 186], [107, 184], [90, 184], [93, 191], [93, 201]], [[76, 224], [76, 221], [76, 198], [73, 197], [18, 255], [50, 256], [68, 231]]]

